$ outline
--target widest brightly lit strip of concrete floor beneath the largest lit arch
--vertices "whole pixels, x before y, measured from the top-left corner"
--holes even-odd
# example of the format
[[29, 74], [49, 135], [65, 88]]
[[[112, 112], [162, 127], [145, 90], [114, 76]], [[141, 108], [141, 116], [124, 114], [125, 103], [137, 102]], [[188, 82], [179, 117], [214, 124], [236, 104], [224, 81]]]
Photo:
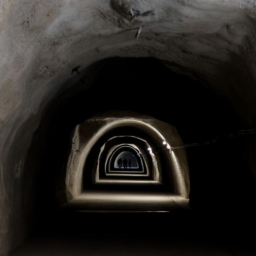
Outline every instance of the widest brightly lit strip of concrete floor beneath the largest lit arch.
[[63, 207], [83, 211], [190, 210], [189, 200], [182, 196], [151, 191], [84, 191]]

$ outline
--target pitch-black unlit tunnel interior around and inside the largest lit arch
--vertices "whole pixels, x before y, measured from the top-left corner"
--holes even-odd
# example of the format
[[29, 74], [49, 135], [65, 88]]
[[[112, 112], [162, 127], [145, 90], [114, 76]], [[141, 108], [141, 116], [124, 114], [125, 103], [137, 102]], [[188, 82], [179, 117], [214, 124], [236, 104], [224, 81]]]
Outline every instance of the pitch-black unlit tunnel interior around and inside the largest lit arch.
[[[105, 237], [106, 241], [112, 241], [120, 237], [138, 239], [140, 236], [150, 240], [157, 237], [156, 233], [161, 237], [167, 232], [167, 237], [177, 243], [184, 239], [203, 244], [202, 237], [211, 237], [212, 243], [242, 241], [241, 246], [246, 244], [247, 248], [254, 244], [248, 234], [256, 227], [252, 203], [256, 195], [255, 179], [242, 154], [244, 137], [228, 136], [246, 127], [243, 127], [225, 95], [218, 94], [196, 78], [170, 71], [164, 61], [154, 58], [104, 59], [84, 69], [80, 76], [81, 80], [75, 86], [55, 98], [46, 109], [27, 154], [24, 183], [37, 175], [36, 184], [24, 188], [26, 195], [36, 191], [33, 220], [27, 216], [30, 234], [51, 233], [57, 236], [67, 233], [76, 239], [78, 234], [87, 232], [90, 237]], [[147, 210], [150, 213], [144, 217], [142, 212], [137, 215], [129, 211], [83, 213], [61, 208], [67, 203], [65, 178], [72, 149], [72, 132], [76, 125], [106, 112], [118, 112], [123, 117], [128, 112], [135, 112], [156, 118], [175, 127], [184, 144], [199, 144], [186, 148], [190, 183], [188, 211], [166, 211], [160, 217], [161, 210]], [[86, 189], [102, 187], [104, 191], [113, 192], [124, 189], [149, 194], [154, 191], [173, 192], [173, 184], [166, 174], [168, 166], [161, 152], [161, 186], [93, 184], [92, 172], [86, 171], [95, 170], [102, 145], [114, 136], [138, 136], [147, 140], [152, 148], [156, 147], [154, 138], [139, 129], [112, 129], [90, 150], [84, 163], [84, 189], [87, 186]], [[216, 137], [216, 143], [204, 143]], [[128, 137], [119, 140], [115, 143], [135, 143]], [[152, 160], [148, 162], [151, 166]], [[34, 169], [38, 169], [39, 174], [35, 174]], [[120, 223], [120, 218], [125, 219], [121, 224], [123, 229], [113, 224]], [[177, 237], [182, 237], [182, 241]]]

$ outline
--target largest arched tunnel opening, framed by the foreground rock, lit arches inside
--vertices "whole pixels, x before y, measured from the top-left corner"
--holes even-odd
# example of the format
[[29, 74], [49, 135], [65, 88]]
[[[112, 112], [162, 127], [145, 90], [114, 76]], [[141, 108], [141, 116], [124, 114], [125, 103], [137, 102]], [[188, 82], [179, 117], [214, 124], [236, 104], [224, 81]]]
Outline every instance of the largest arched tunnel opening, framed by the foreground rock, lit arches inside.
[[[165, 222], [176, 234], [187, 228], [206, 232], [206, 225], [207, 236], [214, 237], [219, 232], [215, 224], [226, 223], [226, 235], [238, 228], [238, 216], [252, 214], [252, 208], [248, 215], [237, 207], [241, 200], [249, 203], [255, 186], [238, 150], [242, 138], [227, 136], [242, 126], [225, 98], [153, 58], [104, 59], [81, 74], [77, 84], [46, 109], [27, 154], [23, 189], [27, 202], [35, 206], [33, 216], [25, 209], [31, 234], [78, 235], [88, 229], [98, 236], [88, 218], [96, 221], [100, 212], [110, 222], [129, 218], [131, 227], [118, 229], [118, 237], [129, 241], [142, 220], [142, 233], [148, 232], [144, 221], [152, 217], [120, 217], [118, 212], [165, 212], [171, 215], [164, 216], [161, 225]], [[107, 170], [109, 155], [127, 144], [147, 159], [143, 175]], [[33, 184], [27, 186], [31, 177]], [[111, 231], [106, 223], [96, 225], [104, 229], [99, 241], [116, 236], [115, 225]]]

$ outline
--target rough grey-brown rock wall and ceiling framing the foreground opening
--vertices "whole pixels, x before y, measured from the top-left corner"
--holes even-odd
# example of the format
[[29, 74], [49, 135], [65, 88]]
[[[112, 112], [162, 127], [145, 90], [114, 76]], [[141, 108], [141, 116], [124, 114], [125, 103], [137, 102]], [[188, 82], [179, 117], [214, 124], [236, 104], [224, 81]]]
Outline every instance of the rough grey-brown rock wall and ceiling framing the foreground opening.
[[[12, 238], [22, 222], [26, 153], [45, 106], [78, 79], [71, 76], [76, 65], [111, 56], [165, 60], [225, 95], [245, 127], [255, 127], [255, 5], [252, 0], [2, 0], [1, 254], [23, 239]], [[256, 173], [254, 141], [244, 150]]]

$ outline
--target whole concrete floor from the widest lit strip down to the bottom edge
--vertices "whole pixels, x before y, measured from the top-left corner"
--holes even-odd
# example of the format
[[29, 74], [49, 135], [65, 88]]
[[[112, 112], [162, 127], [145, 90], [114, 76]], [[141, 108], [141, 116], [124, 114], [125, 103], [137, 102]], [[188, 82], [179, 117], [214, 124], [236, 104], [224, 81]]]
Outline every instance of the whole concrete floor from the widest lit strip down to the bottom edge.
[[[195, 212], [164, 191], [84, 191], [45, 212], [12, 256], [255, 256], [232, 221]], [[246, 238], [247, 239], [247, 238]]]

